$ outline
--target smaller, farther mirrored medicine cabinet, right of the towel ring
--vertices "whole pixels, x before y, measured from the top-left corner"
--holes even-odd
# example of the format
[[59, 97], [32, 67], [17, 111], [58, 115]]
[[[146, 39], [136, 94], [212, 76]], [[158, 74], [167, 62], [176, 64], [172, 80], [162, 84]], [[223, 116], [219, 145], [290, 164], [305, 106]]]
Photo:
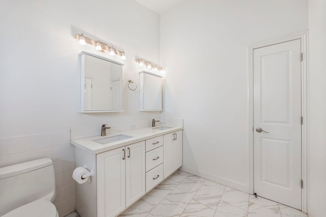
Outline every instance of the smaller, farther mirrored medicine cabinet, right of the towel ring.
[[140, 111], [162, 111], [162, 77], [150, 72], [139, 73]]

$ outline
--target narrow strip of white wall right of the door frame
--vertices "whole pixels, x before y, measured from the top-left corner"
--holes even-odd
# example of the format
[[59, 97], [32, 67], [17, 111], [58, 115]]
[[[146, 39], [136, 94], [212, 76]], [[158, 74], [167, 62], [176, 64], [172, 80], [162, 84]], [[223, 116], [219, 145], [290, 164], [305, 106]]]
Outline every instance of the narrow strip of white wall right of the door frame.
[[309, 0], [309, 204], [310, 217], [326, 213], [326, 1]]

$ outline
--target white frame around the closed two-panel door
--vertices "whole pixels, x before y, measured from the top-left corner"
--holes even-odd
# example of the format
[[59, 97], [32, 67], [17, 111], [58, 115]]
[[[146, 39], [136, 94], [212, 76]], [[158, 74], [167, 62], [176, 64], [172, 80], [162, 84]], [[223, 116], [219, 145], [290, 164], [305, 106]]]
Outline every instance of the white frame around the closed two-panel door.
[[302, 211], [307, 213], [308, 206], [308, 53], [307, 53], [307, 38], [308, 32], [298, 33], [295, 35], [278, 38], [275, 40], [270, 40], [266, 42], [261, 42], [257, 44], [250, 45], [248, 48], [249, 61], [248, 61], [248, 139], [249, 139], [249, 193], [254, 194], [254, 87], [253, 87], [253, 51], [254, 49], [266, 47], [270, 45], [280, 44], [283, 42], [288, 42], [292, 40], [301, 39], [301, 50], [303, 53], [303, 60], [301, 61], [301, 112], [303, 116], [303, 125], [301, 128], [301, 178], [304, 182], [303, 189], [301, 191], [302, 195]]

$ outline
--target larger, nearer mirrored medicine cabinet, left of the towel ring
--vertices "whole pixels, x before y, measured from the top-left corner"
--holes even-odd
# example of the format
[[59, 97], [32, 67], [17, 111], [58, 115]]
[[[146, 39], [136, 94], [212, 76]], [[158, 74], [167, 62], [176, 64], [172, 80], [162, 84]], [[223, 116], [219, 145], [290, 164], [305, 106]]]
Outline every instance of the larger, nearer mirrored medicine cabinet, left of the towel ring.
[[80, 112], [122, 111], [123, 64], [83, 51], [81, 64]]

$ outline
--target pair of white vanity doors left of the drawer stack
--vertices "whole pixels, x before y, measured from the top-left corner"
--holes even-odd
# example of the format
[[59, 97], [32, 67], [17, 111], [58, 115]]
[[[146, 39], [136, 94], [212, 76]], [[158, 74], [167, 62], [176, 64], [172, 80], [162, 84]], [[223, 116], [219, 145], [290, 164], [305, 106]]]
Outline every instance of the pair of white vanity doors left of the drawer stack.
[[97, 154], [97, 217], [116, 216], [145, 194], [145, 141]]

